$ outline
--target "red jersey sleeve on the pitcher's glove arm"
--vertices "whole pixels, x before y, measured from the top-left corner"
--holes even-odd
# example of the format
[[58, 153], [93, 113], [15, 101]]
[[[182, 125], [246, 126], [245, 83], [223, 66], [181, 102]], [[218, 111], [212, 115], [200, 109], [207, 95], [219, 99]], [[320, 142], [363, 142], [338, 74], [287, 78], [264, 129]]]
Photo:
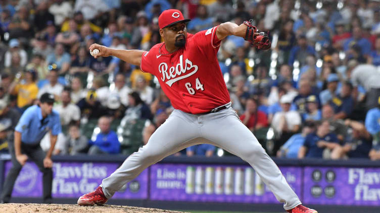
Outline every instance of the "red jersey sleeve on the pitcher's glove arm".
[[216, 55], [219, 50], [221, 40], [216, 36], [218, 26], [203, 30], [194, 35], [194, 39], [200, 50], [206, 55]]

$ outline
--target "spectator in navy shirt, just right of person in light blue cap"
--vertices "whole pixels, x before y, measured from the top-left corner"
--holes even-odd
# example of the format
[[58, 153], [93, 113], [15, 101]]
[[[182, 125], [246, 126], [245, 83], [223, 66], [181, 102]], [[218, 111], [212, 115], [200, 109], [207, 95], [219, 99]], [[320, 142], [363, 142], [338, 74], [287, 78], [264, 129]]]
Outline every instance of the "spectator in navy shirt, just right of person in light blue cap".
[[344, 82], [340, 94], [329, 101], [335, 111], [334, 119], [345, 119], [350, 116], [354, 108], [354, 100], [351, 97], [352, 88], [350, 82]]

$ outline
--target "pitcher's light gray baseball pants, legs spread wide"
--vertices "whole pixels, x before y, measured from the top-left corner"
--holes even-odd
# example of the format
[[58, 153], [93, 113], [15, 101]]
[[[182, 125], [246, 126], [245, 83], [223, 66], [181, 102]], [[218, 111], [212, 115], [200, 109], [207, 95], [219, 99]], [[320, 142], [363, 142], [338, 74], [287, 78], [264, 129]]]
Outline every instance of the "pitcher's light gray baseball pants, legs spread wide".
[[130, 155], [101, 187], [111, 198], [144, 169], [189, 146], [208, 143], [241, 157], [258, 173], [284, 209], [301, 204], [281, 171], [266, 154], [252, 132], [231, 108], [216, 113], [188, 114], [174, 110], [151, 136], [148, 144]]

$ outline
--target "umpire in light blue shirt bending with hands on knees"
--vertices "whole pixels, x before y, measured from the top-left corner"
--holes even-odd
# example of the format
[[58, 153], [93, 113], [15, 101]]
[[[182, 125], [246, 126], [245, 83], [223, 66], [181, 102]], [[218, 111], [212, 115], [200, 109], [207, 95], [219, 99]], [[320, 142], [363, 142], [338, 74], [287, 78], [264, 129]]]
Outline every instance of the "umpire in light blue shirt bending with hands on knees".
[[[32, 160], [43, 173], [43, 202], [52, 202], [53, 161], [51, 159], [57, 141], [57, 135], [61, 132], [61, 122], [58, 112], [53, 110], [54, 95], [44, 93], [39, 99], [39, 104], [25, 110], [15, 128], [15, 143], [9, 144], [12, 156], [12, 168], [10, 169], [2, 193], [2, 202], [7, 203], [11, 199], [13, 186], [25, 162]], [[50, 132], [51, 147], [48, 153], [44, 153], [39, 146], [42, 137]]]

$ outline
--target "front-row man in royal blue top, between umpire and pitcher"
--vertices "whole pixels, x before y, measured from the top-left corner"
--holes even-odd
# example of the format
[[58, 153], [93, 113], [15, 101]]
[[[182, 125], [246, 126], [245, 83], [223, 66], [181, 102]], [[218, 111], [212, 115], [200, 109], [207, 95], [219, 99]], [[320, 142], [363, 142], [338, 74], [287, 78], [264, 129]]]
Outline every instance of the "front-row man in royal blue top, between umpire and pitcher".
[[110, 130], [110, 124], [111, 119], [109, 117], [103, 116], [99, 118], [100, 133], [88, 141], [91, 145], [88, 150], [89, 155], [118, 154], [120, 152], [119, 139], [117, 134]]

